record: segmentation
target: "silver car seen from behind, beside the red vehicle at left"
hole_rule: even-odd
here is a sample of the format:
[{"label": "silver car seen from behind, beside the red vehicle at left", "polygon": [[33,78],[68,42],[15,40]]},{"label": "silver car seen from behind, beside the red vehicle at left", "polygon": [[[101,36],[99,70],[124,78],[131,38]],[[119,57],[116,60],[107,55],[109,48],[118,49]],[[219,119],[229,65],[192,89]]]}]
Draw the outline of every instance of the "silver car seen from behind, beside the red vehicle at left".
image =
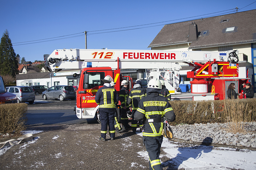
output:
[{"label": "silver car seen from behind, beside the red vehicle at left", "polygon": [[29,104],[33,104],[36,98],[33,89],[28,86],[10,86],[6,90],[9,93],[17,95],[17,103],[28,102]]}]

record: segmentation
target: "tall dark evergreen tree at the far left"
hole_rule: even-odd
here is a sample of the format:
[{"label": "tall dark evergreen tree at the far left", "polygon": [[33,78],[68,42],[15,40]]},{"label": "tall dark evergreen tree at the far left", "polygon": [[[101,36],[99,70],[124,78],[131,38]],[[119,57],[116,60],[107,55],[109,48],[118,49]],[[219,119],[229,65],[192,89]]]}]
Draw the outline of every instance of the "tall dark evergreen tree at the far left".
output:
[{"label": "tall dark evergreen tree at the far left", "polygon": [[3,33],[0,43],[0,73],[12,77],[19,73],[18,61],[7,30]]}]

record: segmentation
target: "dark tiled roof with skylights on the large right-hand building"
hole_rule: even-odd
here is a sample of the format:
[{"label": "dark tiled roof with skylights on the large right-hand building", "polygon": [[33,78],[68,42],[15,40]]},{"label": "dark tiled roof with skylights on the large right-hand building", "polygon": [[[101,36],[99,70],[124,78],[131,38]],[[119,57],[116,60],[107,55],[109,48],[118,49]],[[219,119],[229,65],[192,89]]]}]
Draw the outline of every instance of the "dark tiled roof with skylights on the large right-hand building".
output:
[{"label": "dark tiled roof with skylights on the large right-hand building", "polygon": [[[164,25],[148,47],[188,43],[189,25],[192,23],[197,25],[198,38],[190,41],[191,49],[256,42],[256,10],[249,10]],[[233,26],[236,27],[235,31],[225,33],[226,28]],[[202,35],[203,31],[208,33]]]}]

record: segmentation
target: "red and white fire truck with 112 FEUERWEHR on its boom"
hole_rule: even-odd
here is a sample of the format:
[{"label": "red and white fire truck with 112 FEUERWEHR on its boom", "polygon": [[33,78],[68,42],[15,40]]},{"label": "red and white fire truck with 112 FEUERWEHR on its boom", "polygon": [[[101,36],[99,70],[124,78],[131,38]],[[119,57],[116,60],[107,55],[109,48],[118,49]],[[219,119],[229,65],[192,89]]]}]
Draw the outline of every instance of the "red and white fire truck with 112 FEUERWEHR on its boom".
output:
[{"label": "red and white fire truck with 112 FEUERWEHR on its boom", "polygon": [[[45,54],[44,61],[52,73],[62,69],[81,69],[80,74],[73,75],[79,76],[75,112],[78,118],[86,118],[88,122],[97,119],[99,106],[95,102],[95,94],[103,86],[101,79],[110,75],[116,82],[117,92],[123,79],[129,80],[132,88],[132,80],[122,76],[122,69],[145,69],[148,81],[154,77],[162,79],[174,98],[186,100],[224,99],[223,87],[219,89],[216,86],[228,79],[239,79],[237,51],[56,49],[50,55]],[[189,94],[181,94],[178,90],[181,62],[194,67],[187,73],[192,80]],[[240,79],[245,81],[246,78]],[[214,86],[212,93],[208,93],[209,87]]]}]

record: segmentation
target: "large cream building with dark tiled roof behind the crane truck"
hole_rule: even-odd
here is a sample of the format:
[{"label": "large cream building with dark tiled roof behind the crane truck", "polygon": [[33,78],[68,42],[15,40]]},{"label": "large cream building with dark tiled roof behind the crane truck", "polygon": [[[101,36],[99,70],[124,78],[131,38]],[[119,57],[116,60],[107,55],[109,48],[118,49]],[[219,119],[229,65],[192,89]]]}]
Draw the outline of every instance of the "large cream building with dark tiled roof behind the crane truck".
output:
[{"label": "large cream building with dark tiled roof behind the crane truck", "polygon": [[[256,10],[249,10],[164,25],[148,48],[178,51],[228,51],[237,49],[239,50],[239,61],[248,61],[243,62],[243,64],[254,70],[251,84],[254,85],[255,91],[255,21]],[[182,70],[184,69],[188,70],[188,67],[183,66]],[[182,76],[186,79],[186,75]]]}]

